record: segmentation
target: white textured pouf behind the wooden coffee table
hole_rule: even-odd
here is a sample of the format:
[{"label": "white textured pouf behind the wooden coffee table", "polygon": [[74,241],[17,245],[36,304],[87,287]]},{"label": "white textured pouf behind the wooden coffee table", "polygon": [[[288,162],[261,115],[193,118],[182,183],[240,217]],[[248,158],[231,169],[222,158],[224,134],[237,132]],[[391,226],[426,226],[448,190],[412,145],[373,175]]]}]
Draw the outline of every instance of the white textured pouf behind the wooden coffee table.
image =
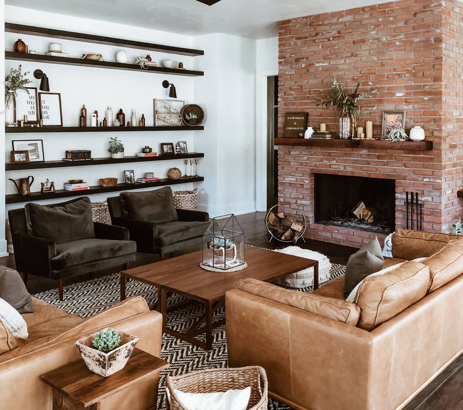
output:
[{"label": "white textured pouf behind the wooden coffee table", "polygon": [[[299,246],[288,246],[288,248],[276,249],[275,252],[319,261],[319,284],[330,279],[331,262],[325,255],[320,254],[319,252],[302,249],[299,248]],[[309,267],[308,269],[304,269],[296,273],[291,273],[288,276],[275,280],[275,283],[296,289],[313,286],[313,267]]]}]

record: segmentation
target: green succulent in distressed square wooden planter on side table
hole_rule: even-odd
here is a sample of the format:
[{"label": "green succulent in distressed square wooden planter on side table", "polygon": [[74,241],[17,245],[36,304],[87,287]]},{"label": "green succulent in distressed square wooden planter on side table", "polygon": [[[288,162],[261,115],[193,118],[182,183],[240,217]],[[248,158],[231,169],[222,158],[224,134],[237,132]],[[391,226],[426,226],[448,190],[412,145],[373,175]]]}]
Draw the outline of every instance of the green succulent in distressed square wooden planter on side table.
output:
[{"label": "green succulent in distressed square wooden planter on side table", "polygon": [[127,364],[138,337],[106,328],[75,342],[85,364],[93,373],[108,377]]}]

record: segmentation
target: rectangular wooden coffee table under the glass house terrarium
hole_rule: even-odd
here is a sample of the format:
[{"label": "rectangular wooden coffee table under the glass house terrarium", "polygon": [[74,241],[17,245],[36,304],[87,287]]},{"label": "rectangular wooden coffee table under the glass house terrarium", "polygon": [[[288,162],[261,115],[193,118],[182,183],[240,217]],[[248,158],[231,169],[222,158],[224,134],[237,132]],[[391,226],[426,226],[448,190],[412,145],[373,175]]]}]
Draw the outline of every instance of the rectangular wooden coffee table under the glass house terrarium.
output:
[{"label": "rectangular wooden coffee table under the glass house terrarium", "polygon": [[[163,332],[178,337],[200,348],[212,349],[212,330],[225,324],[225,320],[212,322],[213,312],[225,301],[225,292],[240,279],[253,278],[270,282],[291,273],[313,267],[314,289],[318,288],[318,261],[286,255],[269,249],[245,245],[244,260],[248,267],[236,272],[209,272],[200,268],[202,251],[178,256],[166,261],[135,267],[120,273],[120,298],[125,299],[126,279],[138,280],[157,287],[157,307],[163,315]],[[167,308],[167,293],[172,292],[206,305],[206,313],[186,333],[167,326],[166,314],[184,306],[182,303]],[[191,301],[187,302],[191,303]],[[206,326],[201,328],[203,323]],[[206,332],[206,343],[196,339]]]}]

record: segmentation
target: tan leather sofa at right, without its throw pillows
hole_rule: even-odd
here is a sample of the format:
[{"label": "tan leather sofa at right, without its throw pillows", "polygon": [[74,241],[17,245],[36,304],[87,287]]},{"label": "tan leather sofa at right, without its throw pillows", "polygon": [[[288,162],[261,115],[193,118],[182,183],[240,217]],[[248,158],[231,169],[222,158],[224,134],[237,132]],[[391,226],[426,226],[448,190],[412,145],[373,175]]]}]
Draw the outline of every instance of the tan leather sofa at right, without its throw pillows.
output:
[{"label": "tan leather sofa at right, without its throw pillows", "polygon": [[[463,246],[461,238],[397,231],[386,265],[430,257],[422,266],[407,262],[423,267],[421,275],[429,269],[429,285],[424,297],[371,331],[349,323],[355,310],[341,303],[348,303],[340,300],[343,278],[314,292],[310,309],[294,291],[282,297],[236,284],[225,295],[229,366],[264,367],[269,396],[298,410],[403,408],[463,351],[463,254],[449,273],[443,248],[450,241]],[[339,314],[346,308],[349,317]]]}]

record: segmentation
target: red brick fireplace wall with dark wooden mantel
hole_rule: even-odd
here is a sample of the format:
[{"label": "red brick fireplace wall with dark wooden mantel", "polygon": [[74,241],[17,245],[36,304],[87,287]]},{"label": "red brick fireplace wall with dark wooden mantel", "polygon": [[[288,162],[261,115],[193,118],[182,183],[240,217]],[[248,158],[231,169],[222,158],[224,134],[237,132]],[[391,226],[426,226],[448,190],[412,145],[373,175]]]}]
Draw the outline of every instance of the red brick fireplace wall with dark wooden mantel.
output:
[{"label": "red brick fireplace wall with dark wooden mantel", "polygon": [[[460,2],[403,0],[280,22],[279,201],[305,213],[306,236],[358,247],[385,236],[316,223],[317,173],[394,180],[395,228],[406,226],[405,193],[416,192],[423,229],[450,232],[463,209],[462,20]],[[334,76],[347,87],[360,81],[360,91],[377,88],[361,102],[359,126],[373,121],[379,137],[382,111],[405,110],[406,130],[420,125],[432,149],[282,139],[285,112],[307,111],[309,126],[334,131],[335,113],[308,100],[324,95]]]}]

